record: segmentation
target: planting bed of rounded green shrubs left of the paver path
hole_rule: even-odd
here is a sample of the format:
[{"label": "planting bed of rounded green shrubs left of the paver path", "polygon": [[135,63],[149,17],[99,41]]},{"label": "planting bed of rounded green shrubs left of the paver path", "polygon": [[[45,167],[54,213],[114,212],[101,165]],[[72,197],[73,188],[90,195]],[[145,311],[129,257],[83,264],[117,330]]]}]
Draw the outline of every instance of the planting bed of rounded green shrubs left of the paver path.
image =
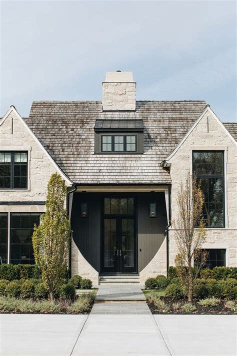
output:
[{"label": "planting bed of rounded green shrubs left of the paver path", "polygon": [[0,313],[86,314],[94,302],[96,289],[89,279],[66,271],[49,300],[40,270],[32,265],[0,266]]}]

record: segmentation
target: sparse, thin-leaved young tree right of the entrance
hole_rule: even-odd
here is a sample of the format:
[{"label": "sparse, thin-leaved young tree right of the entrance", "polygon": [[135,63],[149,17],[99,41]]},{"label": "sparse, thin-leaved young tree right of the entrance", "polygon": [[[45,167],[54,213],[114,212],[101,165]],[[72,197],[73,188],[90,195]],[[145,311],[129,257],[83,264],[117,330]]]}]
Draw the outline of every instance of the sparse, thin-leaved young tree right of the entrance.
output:
[{"label": "sparse, thin-leaved young tree right of the entrance", "polygon": [[[175,257],[178,277],[187,294],[188,301],[192,300],[193,280],[197,278],[204,266],[207,252],[201,249],[205,242],[206,231],[202,216],[203,195],[196,178],[187,175],[185,183],[180,184],[177,195],[177,218],[173,224],[178,253]],[[198,261],[196,270],[192,270],[192,262]]]}]

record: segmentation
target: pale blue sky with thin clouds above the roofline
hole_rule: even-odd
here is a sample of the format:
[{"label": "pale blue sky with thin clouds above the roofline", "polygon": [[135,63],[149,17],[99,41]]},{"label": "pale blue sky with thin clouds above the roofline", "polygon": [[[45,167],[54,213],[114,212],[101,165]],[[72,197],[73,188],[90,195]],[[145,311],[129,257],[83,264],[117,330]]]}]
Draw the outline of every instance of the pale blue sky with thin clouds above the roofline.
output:
[{"label": "pale blue sky with thin clouds above the roofline", "polygon": [[137,100],[206,100],[236,121],[234,1],[1,1],[0,115],[11,104],[101,100],[132,71]]}]

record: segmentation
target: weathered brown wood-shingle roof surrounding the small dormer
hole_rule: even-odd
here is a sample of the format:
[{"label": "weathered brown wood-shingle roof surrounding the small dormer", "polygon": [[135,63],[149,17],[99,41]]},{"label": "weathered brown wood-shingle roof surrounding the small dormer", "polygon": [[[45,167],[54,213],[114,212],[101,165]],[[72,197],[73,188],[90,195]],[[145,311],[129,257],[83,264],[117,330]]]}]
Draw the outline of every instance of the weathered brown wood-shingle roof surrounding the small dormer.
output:
[{"label": "weathered brown wood-shingle roof surrounding the small dormer", "polygon": [[[76,183],[170,182],[159,167],[202,113],[204,101],[138,101],[135,112],[102,112],[101,102],[33,102],[26,124]],[[96,120],[142,120],[143,154],[94,154]]]}]

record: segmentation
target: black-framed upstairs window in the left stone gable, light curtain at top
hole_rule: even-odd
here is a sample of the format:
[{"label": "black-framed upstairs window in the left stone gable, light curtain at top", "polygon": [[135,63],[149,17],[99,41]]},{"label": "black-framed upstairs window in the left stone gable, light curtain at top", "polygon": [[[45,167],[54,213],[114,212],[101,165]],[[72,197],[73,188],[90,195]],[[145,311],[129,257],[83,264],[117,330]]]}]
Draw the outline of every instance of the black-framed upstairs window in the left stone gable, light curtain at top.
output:
[{"label": "black-framed upstairs window in the left stone gable, light curtain at top", "polygon": [[27,152],[0,152],[0,189],[27,188]]}]

